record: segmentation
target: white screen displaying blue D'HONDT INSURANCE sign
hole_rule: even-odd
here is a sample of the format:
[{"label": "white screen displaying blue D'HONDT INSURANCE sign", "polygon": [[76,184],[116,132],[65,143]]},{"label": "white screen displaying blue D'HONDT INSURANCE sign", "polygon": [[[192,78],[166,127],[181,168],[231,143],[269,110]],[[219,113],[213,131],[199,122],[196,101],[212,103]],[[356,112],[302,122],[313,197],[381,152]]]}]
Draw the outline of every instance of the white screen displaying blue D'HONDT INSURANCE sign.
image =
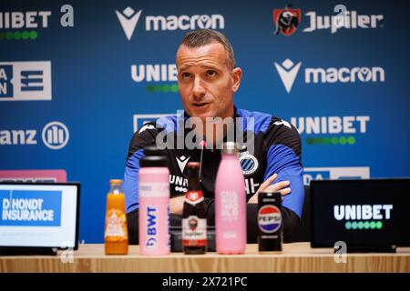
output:
[{"label": "white screen displaying blue D'HONDT INSURANCE sign", "polygon": [[79,184],[0,183],[0,247],[73,247]]}]

